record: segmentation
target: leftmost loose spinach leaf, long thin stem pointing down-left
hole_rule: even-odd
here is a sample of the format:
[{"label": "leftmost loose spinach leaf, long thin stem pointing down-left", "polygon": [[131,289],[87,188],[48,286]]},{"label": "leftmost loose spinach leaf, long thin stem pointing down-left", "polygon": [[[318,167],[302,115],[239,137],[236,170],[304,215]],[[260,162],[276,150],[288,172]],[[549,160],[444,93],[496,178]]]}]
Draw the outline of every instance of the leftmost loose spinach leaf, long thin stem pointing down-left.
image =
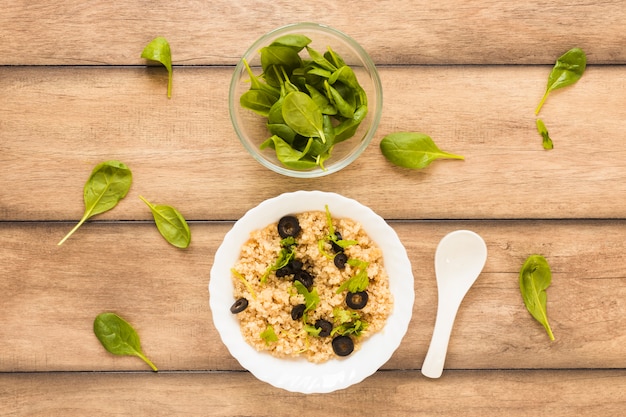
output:
[{"label": "leftmost loose spinach leaf, long thin stem pointing down-left", "polygon": [[128,193],[132,173],[119,161],[102,162],[93,169],[83,189],[85,213],[78,224],[59,242],[62,245],[87,219],[111,210]]}]

